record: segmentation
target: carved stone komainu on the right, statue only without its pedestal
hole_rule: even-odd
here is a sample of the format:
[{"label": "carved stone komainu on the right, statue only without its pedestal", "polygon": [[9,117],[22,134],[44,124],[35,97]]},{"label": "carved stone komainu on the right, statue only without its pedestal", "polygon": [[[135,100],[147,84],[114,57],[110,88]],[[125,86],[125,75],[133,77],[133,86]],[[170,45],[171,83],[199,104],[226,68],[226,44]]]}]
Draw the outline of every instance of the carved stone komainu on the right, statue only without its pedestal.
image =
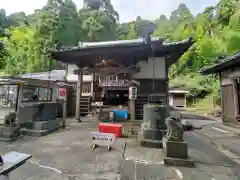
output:
[{"label": "carved stone komainu on the right, statue only without its pedestal", "polygon": [[166,119],[168,141],[183,142],[183,127],[181,120],[168,117]]}]

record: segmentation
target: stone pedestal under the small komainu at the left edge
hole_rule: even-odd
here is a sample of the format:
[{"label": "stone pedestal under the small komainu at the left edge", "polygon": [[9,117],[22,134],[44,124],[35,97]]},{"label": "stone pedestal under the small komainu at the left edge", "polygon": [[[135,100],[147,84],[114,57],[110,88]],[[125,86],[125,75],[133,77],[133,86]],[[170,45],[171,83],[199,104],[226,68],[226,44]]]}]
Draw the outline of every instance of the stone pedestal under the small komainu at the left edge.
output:
[{"label": "stone pedestal under the small komainu at the left edge", "polygon": [[5,127],[0,126],[0,141],[14,141],[20,138],[20,127],[19,126],[12,126],[12,127]]}]

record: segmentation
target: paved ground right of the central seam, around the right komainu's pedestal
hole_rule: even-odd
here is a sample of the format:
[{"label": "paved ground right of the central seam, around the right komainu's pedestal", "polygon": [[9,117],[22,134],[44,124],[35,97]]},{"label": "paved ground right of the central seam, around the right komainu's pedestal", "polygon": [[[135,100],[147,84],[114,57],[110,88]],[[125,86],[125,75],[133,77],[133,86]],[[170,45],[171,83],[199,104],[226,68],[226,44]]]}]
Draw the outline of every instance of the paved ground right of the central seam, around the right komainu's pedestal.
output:
[{"label": "paved ground right of the central seam, around the right komainu's pedestal", "polygon": [[139,147],[134,139],[127,140],[121,180],[239,180],[239,164],[219,152],[194,132],[187,132],[189,156],[196,167],[163,165],[161,150]]}]

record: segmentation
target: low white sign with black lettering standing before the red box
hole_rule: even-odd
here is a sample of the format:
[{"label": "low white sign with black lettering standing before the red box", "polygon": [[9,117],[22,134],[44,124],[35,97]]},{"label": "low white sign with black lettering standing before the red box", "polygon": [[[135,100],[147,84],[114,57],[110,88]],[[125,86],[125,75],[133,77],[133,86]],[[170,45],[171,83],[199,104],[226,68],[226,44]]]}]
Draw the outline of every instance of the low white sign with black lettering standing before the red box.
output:
[{"label": "low white sign with black lettering standing before the red box", "polygon": [[110,133],[92,132],[92,139],[94,146],[97,145],[110,149],[116,141],[116,136]]}]

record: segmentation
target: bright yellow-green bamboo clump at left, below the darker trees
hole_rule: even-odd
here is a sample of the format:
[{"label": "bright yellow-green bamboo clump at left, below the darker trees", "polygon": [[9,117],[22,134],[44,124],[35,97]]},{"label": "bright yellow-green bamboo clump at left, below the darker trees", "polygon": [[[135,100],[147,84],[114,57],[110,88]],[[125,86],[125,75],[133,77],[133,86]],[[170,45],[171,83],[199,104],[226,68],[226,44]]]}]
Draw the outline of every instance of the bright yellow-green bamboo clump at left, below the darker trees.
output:
[{"label": "bright yellow-green bamboo clump at left, below the darker trees", "polygon": [[17,75],[48,68],[49,62],[41,52],[40,38],[34,28],[17,27],[10,33],[10,38],[3,38],[5,51],[1,62],[6,74]]}]

